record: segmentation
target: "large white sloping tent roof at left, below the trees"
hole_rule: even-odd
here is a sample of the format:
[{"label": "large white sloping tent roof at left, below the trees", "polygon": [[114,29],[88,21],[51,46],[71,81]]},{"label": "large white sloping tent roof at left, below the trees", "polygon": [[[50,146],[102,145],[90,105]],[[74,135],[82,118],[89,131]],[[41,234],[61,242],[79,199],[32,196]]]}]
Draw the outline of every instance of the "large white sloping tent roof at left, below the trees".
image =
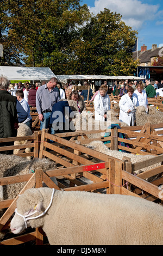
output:
[{"label": "large white sloping tent roof at left, below the trees", "polygon": [[33,68],[26,66],[0,66],[0,75],[8,80],[49,80],[56,77],[50,68]]}]

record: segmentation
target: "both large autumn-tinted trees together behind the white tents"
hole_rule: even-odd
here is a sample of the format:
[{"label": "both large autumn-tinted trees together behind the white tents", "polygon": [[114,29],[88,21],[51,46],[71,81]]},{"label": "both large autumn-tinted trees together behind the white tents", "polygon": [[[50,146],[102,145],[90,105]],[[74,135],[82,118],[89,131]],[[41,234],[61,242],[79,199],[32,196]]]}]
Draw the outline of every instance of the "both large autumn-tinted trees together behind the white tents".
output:
[{"label": "both large autumn-tinted trees together behind the white tents", "polygon": [[0,9],[5,65],[23,61],[57,75],[132,75],[136,68],[128,50],[137,32],[120,14],[93,16],[79,0],[0,0]]}]

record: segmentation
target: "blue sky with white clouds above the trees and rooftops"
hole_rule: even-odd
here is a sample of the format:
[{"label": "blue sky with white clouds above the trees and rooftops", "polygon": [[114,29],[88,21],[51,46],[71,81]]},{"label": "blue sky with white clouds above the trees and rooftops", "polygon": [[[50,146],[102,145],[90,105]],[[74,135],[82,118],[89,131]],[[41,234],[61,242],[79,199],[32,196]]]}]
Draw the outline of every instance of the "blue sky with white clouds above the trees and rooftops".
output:
[{"label": "blue sky with white clouds above the trees and rooftops", "polygon": [[145,44],[147,50],[152,44],[163,46],[163,1],[162,0],[82,0],[93,14],[108,8],[120,13],[126,25],[138,34],[138,48]]}]

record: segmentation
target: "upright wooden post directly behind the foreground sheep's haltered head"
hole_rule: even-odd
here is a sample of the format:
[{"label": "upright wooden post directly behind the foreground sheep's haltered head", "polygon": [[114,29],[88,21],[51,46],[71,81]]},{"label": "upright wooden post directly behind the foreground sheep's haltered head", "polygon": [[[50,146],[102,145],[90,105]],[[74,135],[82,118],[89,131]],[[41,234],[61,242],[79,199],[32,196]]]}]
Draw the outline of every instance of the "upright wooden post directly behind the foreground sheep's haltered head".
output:
[{"label": "upright wooden post directly behind the foreground sheep's haltered head", "polygon": [[[36,169],[35,173],[36,188],[42,187],[43,170]],[[41,227],[36,228],[36,245],[43,245],[43,230]]]}]

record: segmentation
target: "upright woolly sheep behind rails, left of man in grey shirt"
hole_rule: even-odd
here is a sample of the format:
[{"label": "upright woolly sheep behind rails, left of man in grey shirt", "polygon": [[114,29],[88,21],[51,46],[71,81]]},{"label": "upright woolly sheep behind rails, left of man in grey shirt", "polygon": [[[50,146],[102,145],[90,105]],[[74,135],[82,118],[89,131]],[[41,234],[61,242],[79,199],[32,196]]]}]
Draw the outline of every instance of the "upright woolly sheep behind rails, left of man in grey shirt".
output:
[{"label": "upright woolly sheep behind rails, left of man in grey shirt", "polygon": [[[26,124],[18,124],[18,129],[17,129],[17,137],[23,137],[23,136],[29,136],[32,135],[32,130],[30,130],[29,126]],[[23,141],[15,141],[14,145],[22,145],[25,144],[27,140]],[[20,149],[14,149],[14,155],[18,153]],[[29,153],[31,151],[31,148],[26,148],[25,152]],[[27,159],[30,160],[30,156],[27,156]]]}]

